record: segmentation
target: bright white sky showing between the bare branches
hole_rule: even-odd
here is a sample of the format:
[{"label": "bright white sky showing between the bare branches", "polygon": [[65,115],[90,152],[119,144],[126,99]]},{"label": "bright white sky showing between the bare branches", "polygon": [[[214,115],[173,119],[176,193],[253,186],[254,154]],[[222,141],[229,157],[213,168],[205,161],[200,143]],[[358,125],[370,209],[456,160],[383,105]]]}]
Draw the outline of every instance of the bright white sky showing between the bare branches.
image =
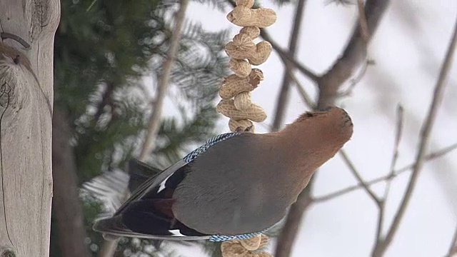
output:
[{"label": "bright white sky showing between the bare branches", "polygon": [[[291,31],[294,6],[278,8],[270,1],[263,6],[275,9],[276,24],[268,28],[281,46],[286,47]],[[219,31],[238,27],[226,20],[226,13],[194,2],[187,16],[201,21],[206,29]],[[371,179],[388,173],[395,133],[396,105],[405,109],[405,128],[399,148],[397,168],[413,161],[418,134],[426,116],[433,87],[444,53],[451,38],[457,16],[456,0],[391,1],[376,32],[369,56],[376,61],[357,84],[350,97],[338,101],[353,119],[354,133],[346,150],[363,178]],[[297,60],[313,71],[328,69],[351,34],[356,20],[356,6],[326,4],[325,0],[310,0],[306,5],[300,35]],[[457,58],[456,58],[457,59]],[[260,66],[265,74],[261,86],[253,91],[253,101],[266,109],[271,124],[276,96],[281,86],[283,65],[276,54]],[[315,87],[299,76],[303,86],[313,96]],[[291,123],[306,111],[293,89],[285,123]],[[220,132],[228,131],[228,119],[221,119]],[[256,132],[268,131],[256,125]],[[457,64],[454,61],[443,106],[433,129],[431,150],[457,142]],[[426,164],[418,180],[406,216],[386,256],[444,256],[451,243],[457,223],[457,151]],[[387,221],[391,222],[408,175],[393,183],[387,204]],[[318,173],[316,195],[331,193],[356,183],[355,178],[336,157]],[[383,186],[373,187],[383,192]],[[376,229],[376,206],[363,193],[356,191],[332,201],[320,203],[308,211],[293,256],[369,256]],[[384,227],[386,230],[387,226]],[[186,251],[184,256],[203,256],[199,250]]]}]

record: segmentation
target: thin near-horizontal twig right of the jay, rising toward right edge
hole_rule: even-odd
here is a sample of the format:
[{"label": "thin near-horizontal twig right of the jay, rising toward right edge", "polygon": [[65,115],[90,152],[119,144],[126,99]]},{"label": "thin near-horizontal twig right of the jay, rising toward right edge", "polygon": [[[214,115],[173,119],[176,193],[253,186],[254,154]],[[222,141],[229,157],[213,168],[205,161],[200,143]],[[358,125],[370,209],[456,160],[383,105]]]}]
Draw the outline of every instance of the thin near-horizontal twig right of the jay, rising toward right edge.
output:
[{"label": "thin near-horizontal twig right of the jay, rising toward right edge", "polygon": [[[451,151],[456,150],[456,149],[457,149],[457,143],[454,143],[451,146],[447,146],[447,147],[442,148],[442,149],[440,149],[438,151],[435,151],[433,153],[429,153],[428,155],[426,155],[425,161],[432,161],[432,160],[434,160],[436,158],[439,158],[441,156],[445,156],[447,153],[451,153]],[[373,179],[371,181],[367,181],[366,185],[372,186],[372,185],[374,185],[376,183],[383,182],[383,181],[386,181],[388,179],[396,178],[396,176],[400,175],[401,173],[405,173],[406,171],[411,170],[411,168],[413,168],[414,166],[415,166],[415,163],[408,164],[407,166],[404,166],[404,167],[399,168],[398,170],[396,170],[393,173],[393,176],[390,176],[390,174],[387,175],[387,176],[381,176],[381,177],[375,178],[375,179]],[[333,193],[328,193],[328,194],[326,194],[324,196],[313,197],[313,201],[316,202],[316,203],[321,203],[321,202],[324,202],[324,201],[331,200],[333,198],[337,198],[339,196],[343,196],[346,193],[351,193],[351,192],[356,191],[356,190],[361,189],[361,188],[363,188],[362,184],[358,183],[355,186],[348,186],[347,188],[343,188],[343,189],[335,191]]]}]

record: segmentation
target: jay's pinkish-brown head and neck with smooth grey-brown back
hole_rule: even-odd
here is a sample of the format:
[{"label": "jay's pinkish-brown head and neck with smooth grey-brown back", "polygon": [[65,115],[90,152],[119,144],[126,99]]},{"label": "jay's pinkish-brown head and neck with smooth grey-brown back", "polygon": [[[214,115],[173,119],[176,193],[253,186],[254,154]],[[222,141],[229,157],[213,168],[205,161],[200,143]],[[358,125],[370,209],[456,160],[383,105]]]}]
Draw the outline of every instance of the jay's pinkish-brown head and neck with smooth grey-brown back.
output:
[{"label": "jay's pinkish-brown head and neck with smooth grey-brown back", "polygon": [[278,222],[313,171],[352,135],[346,111],[307,113],[276,133],[243,133],[212,146],[174,192],[176,218],[201,233],[236,235]]}]

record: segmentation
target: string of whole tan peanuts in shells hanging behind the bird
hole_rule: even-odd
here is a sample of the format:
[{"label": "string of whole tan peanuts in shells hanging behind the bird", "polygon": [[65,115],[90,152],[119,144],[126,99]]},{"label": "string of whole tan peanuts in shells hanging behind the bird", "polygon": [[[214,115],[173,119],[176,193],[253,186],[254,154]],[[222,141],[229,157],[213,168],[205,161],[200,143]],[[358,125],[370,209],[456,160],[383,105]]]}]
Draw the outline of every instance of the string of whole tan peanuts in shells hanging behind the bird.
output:
[{"label": "string of whole tan peanuts in shells hanging behind the bird", "polygon": [[[266,119],[261,106],[251,102],[251,91],[263,80],[260,69],[251,65],[260,65],[271,54],[271,44],[261,41],[253,42],[260,35],[260,28],[271,26],[276,21],[272,9],[251,9],[254,0],[236,0],[236,7],[227,15],[231,23],[242,26],[233,40],[226,44],[226,53],[231,57],[229,66],[234,74],[227,76],[219,89],[221,101],[216,107],[219,113],[230,118],[231,131],[253,132],[254,122]],[[260,234],[246,240],[224,241],[221,244],[223,257],[272,257],[270,253],[258,252],[268,243],[268,236]]]}]

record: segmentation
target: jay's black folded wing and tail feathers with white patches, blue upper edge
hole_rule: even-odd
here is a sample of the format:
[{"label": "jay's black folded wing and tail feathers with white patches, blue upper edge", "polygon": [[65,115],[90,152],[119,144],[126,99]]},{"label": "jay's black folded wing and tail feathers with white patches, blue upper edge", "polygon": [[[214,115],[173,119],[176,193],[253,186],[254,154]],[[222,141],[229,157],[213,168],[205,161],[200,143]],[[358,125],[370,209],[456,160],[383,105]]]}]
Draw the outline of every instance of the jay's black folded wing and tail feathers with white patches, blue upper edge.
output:
[{"label": "jay's black folded wing and tail feathers with white patches, blue upper edge", "polygon": [[[111,236],[136,236],[139,238],[196,240],[206,239],[210,235],[199,233],[178,221],[171,211],[174,202],[172,198],[174,189],[190,171],[189,164],[201,153],[216,143],[240,133],[225,133],[211,138],[207,143],[186,155],[180,161],[166,168],[156,176],[146,178],[148,174],[157,171],[156,168],[146,163],[134,160],[129,163],[129,171],[134,173],[134,183],[129,183],[129,188],[135,183],[146,179],[146,182],[136,188],[131,197],[121,205],[109,218],[100,218],[94,223],[94,230]],[[109,238],[109,236],[106,236]]]}]

